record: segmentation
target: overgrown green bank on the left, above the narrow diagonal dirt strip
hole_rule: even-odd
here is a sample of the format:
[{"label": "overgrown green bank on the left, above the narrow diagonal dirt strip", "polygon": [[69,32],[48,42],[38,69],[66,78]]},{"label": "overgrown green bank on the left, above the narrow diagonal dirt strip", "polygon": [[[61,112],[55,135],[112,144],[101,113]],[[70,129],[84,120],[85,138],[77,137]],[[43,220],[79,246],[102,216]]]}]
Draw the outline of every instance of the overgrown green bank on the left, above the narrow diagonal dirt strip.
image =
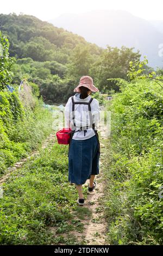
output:
[{"label": "overgrown green bank on the left, above the narrow diagonal dirt strip", "polygon": [[24,107],[17,92],[0,92],[0,176],[7,167],[27,157],[52,131],[52,114],[35,99]]}]

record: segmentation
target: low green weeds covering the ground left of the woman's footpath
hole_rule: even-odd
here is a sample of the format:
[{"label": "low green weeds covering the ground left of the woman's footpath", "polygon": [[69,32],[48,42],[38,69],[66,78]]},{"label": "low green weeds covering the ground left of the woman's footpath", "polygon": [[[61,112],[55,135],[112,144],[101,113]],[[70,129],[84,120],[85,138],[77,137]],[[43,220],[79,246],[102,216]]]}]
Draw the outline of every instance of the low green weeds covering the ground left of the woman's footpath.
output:
[{"label": "low green weeds covering the ground left of the woman's footpath", "polygon": [[55,143],[11,174],[1,198],[1,245],[77,243],[77,237],[62,235],[83,230],[74,218],[82,209],[76,205],[77,192],[68,184],[67,170],[67,147]]}]

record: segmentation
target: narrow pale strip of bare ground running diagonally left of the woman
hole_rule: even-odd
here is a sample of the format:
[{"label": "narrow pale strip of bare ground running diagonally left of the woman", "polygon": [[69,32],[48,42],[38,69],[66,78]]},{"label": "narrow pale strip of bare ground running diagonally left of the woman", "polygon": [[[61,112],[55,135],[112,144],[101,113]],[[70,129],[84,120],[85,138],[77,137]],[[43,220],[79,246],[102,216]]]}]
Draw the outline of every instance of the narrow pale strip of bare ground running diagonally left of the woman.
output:
[{"label": "narrow pale strip of bare ground running diagonally left of the woman", "polygon": [[[43,142],[41,148],[44,149],[47,147],[47,145],[50,145],[50,144],[54,144],[54,139],[55,139],[55,134],[54,132],[51,133],[51,135],[49,135],[45,141]],[[20,161],[18,161],[17,163],[14,164],[14,166],[12,167],[9,167],[7,170],[6,170],[6,174],[4,174],[1,178],[0,178],[0,186],[5,182],[7,181],[7,179],[9,178],[10,174],[12,172],[14,172],[14,170],[18,169],[18,168],[21,168],[23,166],[23,163],[26,162],[28,159],[30,159],[30,157],[33,157],[33,156],[36,156],[36,155],[39,155],[39,151],[33,151],[26,159],[21,159]]]}]

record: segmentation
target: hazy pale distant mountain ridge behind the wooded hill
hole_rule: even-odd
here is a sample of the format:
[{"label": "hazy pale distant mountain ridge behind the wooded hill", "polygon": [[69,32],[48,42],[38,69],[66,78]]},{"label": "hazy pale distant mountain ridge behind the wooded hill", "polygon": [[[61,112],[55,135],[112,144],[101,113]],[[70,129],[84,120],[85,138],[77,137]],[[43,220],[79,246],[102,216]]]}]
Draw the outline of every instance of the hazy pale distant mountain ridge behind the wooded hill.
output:
[{"label": "hazy pale distant mountain ridge behind the wooded hill", "polygon": [[62,14],[49,20],[54,26],[62,27],[83,36],[86,41],[100,47],[134,47],[147,56],[149,65],[162,67],[159,45],[162,33],[151,21],[137,17],[123,10],[96,10],[82,14]]}]

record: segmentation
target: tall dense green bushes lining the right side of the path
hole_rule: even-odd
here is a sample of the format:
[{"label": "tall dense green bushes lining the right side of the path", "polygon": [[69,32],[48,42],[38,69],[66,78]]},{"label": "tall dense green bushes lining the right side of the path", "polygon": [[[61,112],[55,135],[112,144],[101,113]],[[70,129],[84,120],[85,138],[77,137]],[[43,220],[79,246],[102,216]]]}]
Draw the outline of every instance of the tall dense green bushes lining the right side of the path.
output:
[{"label": "tall dense green bushes lining the right side of the path", "polygon": [[119,245],[161,245],[163,91],[154,81],[138,78],[120,89],[109,107],[108,239]]}]

